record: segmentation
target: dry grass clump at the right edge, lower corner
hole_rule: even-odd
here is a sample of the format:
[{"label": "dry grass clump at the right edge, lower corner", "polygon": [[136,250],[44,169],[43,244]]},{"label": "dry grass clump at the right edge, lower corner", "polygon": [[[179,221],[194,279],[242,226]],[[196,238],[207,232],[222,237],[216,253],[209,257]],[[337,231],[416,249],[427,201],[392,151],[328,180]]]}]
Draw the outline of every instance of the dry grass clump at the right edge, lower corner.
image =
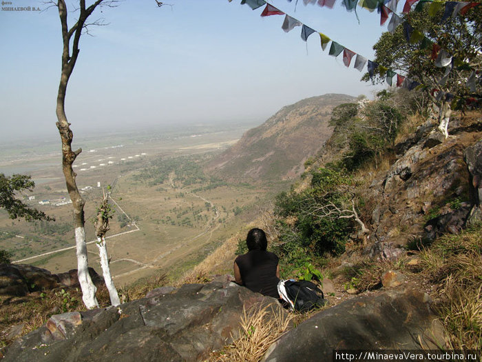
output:
[{"label": "dry grass clump at the right edge, lower corner", "polygon": [[482,348],[482,226],[437,240],[420,253],[421,274],[436,285],[432,298],[458,349]]}]

